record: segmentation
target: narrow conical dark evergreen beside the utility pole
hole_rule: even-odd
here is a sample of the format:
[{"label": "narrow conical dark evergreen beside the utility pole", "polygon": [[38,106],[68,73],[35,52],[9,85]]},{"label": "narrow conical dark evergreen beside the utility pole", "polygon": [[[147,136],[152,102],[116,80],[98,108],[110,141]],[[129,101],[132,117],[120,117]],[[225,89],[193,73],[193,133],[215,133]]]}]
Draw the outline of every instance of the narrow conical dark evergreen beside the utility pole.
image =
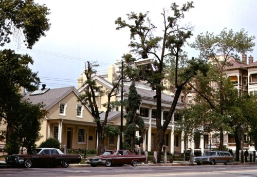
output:
[{"label": "narrow conical dark evergreen beside the utility pole", "polygon": [[123,148],[129,149],[131,152],[134,151],[135,145],[140,144],[140,139],[136,136],[136,131],[144,128],[144,121],[138,114],[140,103],[141,96],[137,94],[135,82],[132,82],[126,101],[128,112],[124,115],[126,118],[126,130],[124,131],[125,142],[123,143]]}]

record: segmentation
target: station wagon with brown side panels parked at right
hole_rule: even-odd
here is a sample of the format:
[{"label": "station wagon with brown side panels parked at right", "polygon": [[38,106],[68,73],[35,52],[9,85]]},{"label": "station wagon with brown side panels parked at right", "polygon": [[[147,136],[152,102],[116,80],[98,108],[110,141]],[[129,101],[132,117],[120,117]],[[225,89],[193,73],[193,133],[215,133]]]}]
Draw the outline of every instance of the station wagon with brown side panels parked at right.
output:
[{"label": "station wagon with brown side panels parked at right", "polygon": [[228,165],[228,163],[232,163],[234,161],[234,157],[228,151],[210,151],[206,152],[204,156],[194,157],[194,162],[197,165],[201,163],[208,163],[211,165],[215,165],[216,163],[224,163]]}]

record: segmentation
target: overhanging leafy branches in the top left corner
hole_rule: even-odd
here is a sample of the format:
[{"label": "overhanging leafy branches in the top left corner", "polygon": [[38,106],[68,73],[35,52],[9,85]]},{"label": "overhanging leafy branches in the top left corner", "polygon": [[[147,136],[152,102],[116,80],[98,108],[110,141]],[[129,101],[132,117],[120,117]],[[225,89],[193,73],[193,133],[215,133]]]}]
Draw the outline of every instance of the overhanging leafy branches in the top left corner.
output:
[{"label": "overhanging leafy branches in the top left corner", "polygon": [[[5,0],[0,1],[0,45],[11,42],[10,35],[18,42],[23,40],[27,48],[46,36],[50,24],[46,15],[49,9],[35,4],[33,0]],[[24,37],[23,37],[24,36]]]}]

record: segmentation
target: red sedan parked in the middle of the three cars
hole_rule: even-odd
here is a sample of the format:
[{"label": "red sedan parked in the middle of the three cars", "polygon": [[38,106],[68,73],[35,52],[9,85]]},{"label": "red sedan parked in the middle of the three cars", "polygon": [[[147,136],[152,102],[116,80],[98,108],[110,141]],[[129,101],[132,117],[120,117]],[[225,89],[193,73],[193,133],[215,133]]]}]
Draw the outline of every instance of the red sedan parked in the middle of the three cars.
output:
[{"label": "red sedan parked in the middle of the three cars", "polygon": [[90,164],[91,167],[98,165],[123,166],[124,164],[137,166],[138,163],[145,162],[145,159],[145,155],[134,155],[129,150],[107,150],[102,155],[86,158],[86,164]]}]

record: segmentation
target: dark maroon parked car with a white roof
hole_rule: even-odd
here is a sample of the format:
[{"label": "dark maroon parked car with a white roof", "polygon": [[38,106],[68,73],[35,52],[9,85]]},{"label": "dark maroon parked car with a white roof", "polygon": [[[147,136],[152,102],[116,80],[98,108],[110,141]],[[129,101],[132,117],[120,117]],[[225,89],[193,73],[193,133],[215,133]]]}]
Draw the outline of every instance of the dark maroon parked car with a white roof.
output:
[{"label": "dark maroon parked car with a white roof", "polygon": [[8,165],[32,166],[62,166],[67,168],[70,163],[80,163],[81,155],[65,155],[60,149],[38,148],[32,149],[31,154],[13,154],[5,158]]}]

